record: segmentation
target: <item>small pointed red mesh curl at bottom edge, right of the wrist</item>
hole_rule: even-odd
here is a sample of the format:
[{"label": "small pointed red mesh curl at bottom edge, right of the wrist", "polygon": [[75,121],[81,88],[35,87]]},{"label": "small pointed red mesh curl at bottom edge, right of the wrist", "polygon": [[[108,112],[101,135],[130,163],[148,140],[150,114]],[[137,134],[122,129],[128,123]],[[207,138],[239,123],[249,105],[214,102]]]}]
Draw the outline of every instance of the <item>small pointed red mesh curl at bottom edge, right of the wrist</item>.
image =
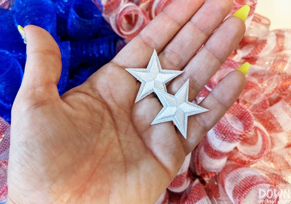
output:
[{"label": "small pointed red mesh curl at bottom edge, right of the wrist", "polygon": [[196,179],[183,193],[180,204],[212,204],[203,185]]}]

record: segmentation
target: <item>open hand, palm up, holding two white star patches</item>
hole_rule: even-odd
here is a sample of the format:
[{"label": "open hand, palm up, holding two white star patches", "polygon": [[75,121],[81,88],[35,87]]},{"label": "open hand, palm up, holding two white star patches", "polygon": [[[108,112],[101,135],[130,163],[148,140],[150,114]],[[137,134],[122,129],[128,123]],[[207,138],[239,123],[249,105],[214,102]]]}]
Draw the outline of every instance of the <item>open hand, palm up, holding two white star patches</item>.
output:
[{"label": "open hand, palm up, holding two white star patches", "polygon": [[134,104],[140,82],[124,68],[145,68],[155,48],[163,69],[184,70],[168,82],[168,92],[175,94],[190,79],[193,101],[245,33],[238,17],[221,24],[232,5],[175,0],[110,63],[61,97],[58,45],[45,30],[26,26],[7,204],[155,203],[185,156],[236,101],[245,76],[233,71],[212,90],[199,104],[210,111],[188,118],[185,140],[172,122],[150,125],[162,105],[154,94]]}]

